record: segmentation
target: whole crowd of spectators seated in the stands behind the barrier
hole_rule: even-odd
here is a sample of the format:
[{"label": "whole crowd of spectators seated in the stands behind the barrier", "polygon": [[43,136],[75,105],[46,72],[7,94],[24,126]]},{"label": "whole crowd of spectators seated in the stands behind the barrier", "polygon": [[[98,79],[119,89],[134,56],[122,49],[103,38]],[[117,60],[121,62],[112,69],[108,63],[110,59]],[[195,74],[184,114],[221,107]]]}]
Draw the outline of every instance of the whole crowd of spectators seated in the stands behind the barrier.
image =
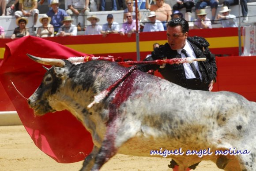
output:
[{"label": "whole crowd of spectators seated in the stands behind the barrier", "polygon": [[[216,16],[218,7],[218,0],[177,0],[177,3],[171,7],[165,2],[165,0],[139,0],[140,4],[143,4],[140,9],[147,9],[148,15],[146,19],[142,21],[141,13],[136,15],[136,7],[133,0],[117,0],[113,1],[113,11],[117,9],[123,10],[123,23],[117,23],[114,21],[112,14],[107,16],[107,22],[104,25],[98,25],[99,18],[96,15],[88,16],[90,8],[92,11],[105,11],[105,0],[67,0],[68,9],[61,9],[58,0],[48,0],[49,11],[46,15],[39,18],[39,22],[42,24],[36,28],[38,21],[38,4],[42,4],[44,0],[15,0],[9,7],[8,12],[6,10],[6,0],[0,0],[0,9],[2,10],[2,16],[8,13],[8,15],[14,15],[16,18],[16,24],[18,27],[14,29],[11,39],[29,35],[29,28],[27,17],[33,16],[32,31],[35,36],[48,37],[48,36],[75,36],[77,31],[77,25],[72,24],[73,16],[83,16],[83,23],[81,25],[82,31],[85,35],[102,34],[106,37],[111,33],[120,33],[121,36],[127,34],[131,37],[132,33],[136,33],[136,16],[138,17],[138,27],[140,32],[155,32],[166,30],[166,22],[171,18],[183,18],[183,14],[179,11],[182,8],[186,8],[185,19],[187,13],[192,12],[192,7],[196,9],[196,20],[193,21],[193,29],[211,29],[212,24],[219,23],[223,27],[237,27],[236,16],[230,14],[230,5],[237,4],[236,0],[224,0],[223,9]],[[124,4],[123,4],[124,3]],[[207,18],[205,12],[206,6],[211,7],[211,19]],[[93,7],[94,6],[94,7]],[[247,0],[241,0],[243,22],[248,22],[248,9]],[[188,19],[187,19],[188,20]],[[87,24],[90,22],[90,24]],[[31,25],[31,24],[30,24]],[[121,26],[121,29],[119,28]],[[4,38],[4,28],[0,26],[0,38]]]}]

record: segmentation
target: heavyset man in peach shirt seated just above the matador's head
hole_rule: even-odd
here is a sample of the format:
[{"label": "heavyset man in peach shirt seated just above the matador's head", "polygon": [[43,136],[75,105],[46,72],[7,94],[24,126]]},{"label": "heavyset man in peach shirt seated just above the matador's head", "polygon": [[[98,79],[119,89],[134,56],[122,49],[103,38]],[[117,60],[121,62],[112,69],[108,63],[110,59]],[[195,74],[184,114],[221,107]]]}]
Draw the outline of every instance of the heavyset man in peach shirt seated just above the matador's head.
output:
[{"label": "heavyset man in peach shirt seated just above the matador's head", "polygon": [[164,0],[155,0],[156,4],[150,5],[149,0],[146,0],[146,8],[150,11],[155,11],[157,20],[161,21],[166,30],[166,22],[171,19],[172,8],[166,4]]}]

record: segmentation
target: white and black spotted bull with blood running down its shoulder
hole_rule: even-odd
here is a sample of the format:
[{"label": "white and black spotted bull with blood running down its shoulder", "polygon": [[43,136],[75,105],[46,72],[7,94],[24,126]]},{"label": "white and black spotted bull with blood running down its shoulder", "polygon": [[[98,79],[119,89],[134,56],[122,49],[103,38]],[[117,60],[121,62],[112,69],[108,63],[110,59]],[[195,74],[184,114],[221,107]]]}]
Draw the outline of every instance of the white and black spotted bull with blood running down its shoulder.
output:
[{"label": "white and black spotted bull with blood running down its shoulder", "polygon": [[[160,148],[183,152],[210,148],[213,152],[202,157],[167,156],[179,164],[179,171],[201,160],[212,160],[226,171],[256,171],[255,102],[226,91],[189,90],[135,70],[102,102],[87,108],[95,95],[129,69],[115,62],[74,65],[68,60],[30,58],[53,65],[28,100],[34,113],[67,109],[91,133],[94,149],[81,171],[98,171],[116,153],[151,156],[151,150]],[[214,153],[229,149],[249,153]]]}]

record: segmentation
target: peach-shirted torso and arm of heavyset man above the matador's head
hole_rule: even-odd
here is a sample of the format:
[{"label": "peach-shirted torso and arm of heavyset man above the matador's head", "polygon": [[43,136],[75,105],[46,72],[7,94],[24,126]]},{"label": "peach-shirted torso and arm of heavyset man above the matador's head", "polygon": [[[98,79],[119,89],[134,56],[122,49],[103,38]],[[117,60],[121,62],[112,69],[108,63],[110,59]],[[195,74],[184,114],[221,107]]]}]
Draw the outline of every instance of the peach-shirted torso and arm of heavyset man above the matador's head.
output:
[{"label": "peach-shirted torso and arm of heavyset man above the matador's head", "polygon": [[168,17],[172,14],[172,8],[169,4],[164,3],[162,7],[158,7],[156,4],[150,6],[150,11],[155,11],[156,19],[161,22],[168,22]]}]

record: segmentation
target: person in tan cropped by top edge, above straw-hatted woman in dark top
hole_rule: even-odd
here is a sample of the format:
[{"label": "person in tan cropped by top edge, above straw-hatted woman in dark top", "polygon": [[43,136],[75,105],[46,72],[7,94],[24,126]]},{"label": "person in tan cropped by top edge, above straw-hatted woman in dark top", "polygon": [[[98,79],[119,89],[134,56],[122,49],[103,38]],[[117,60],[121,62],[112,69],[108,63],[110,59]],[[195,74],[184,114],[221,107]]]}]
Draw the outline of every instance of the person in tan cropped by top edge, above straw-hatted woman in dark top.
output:
[{"label": "person in tan cropped by top edge, above straw-hatted woman in dark top", "polygon": [[19,11],[15,11],[14,15],[16,18],[22,16],[34,16],[33,28],[35,29],[35,25],[38,21],[38,0],[19,0]]}]

